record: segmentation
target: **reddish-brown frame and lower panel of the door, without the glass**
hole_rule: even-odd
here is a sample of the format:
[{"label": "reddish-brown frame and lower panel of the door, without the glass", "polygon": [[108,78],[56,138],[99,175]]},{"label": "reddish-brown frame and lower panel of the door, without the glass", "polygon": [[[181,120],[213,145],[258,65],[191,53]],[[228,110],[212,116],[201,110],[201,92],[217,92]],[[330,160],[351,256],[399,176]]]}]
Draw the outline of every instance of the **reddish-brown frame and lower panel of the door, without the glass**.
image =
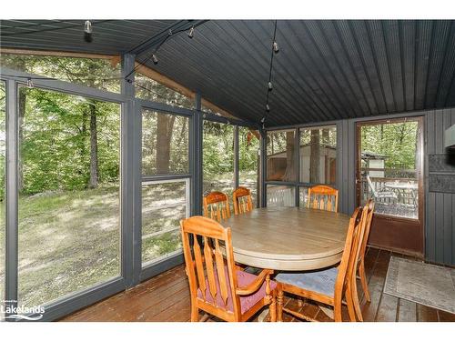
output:
[{"label": "reddish-brown frame and lower panel of the door, without the glass", "polygon": [[[403,122],[417,122],[418,123],[418,144],[417,144],[417,153],[419,155],[418,163],[416,165],[417,180],[419,184],[418,196],[418,219],[411,219],[407,217],[398,217],[398,216],[387,216],[381,214],[375,214],[375,219],[373,220],[373,225],[371,226],[372,237],[370,236],[369,245],[377,246],[384,249],[389,249],[391,251],[398,251],[403,254],[408,254],[412,256],[418,256],[423,258],[425,254],[425,184],[424,184],[424,173],[425,173],[425,145],[424,145],[424,116],[423,115],[412,115],[412,116],[401,116],[394,118],[380,118],[373,120],[362,120],[356,122],[356,203],[360,206],[361,201],[361,189],[360,189],[360,171],[361,171],[361,137],[360,131],[361,127],[364,125],[380,125],[380,124],[392,124],[392,123],[403,123]],[[376,231],[374,228],[376,222],[376,227],[381,226],[380,228],[384,229],[386,236],[381,236],[381,234]],[[417,224],[416,224],[417,223]],[[399,232],[399,228],[412,228],[413,226],[419,226],[420,233],[415,236],[410,242],[415,242],[412,249],[406,247],[406,244],[400,244],[399,241],[394,240],[395,235],[393,233]],[[389,229],[389,231],[388,231]],[[389,232],[389,236],[387,233]],[[378,236],[381,236],[378,238]],[[373,240],[371,240],[371,238]],[[392,244],[394,243],[394,244]]]}]

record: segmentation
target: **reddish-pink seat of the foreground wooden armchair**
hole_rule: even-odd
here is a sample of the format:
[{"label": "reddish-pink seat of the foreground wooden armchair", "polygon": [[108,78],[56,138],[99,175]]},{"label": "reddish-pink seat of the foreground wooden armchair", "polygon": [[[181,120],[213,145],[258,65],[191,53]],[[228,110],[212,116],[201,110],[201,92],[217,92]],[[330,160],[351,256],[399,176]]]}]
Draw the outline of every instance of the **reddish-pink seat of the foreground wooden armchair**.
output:
[{"label": "reddish-pink seat of the foreground wooden armchair", "polygon": [[[225,266],[225,274],[226,274],[226,280],[228,281],[228,274],[227,274],[227,266]],[[237,271],[237,280],[238,280],[238,286],[239,287],[245,287],[254,282],[254,280],[258,277],[252,274],[248,274],[245,271],[238,270]],[[206,301],[211,303],[212,305],[220,306],[227,309],[229,312],[234,311],[234,305],[232,303],[232,294],[230,289],[227,289],[227,306],[225,306],[223,302],[223,298],[221,297],[221,291],[219,289],[219,281],[218,281],[218,276],[217,272],[215,271],[215,283],[217,285],[217,295],[216,299],[214,299],[211,294],[210,294],[210,289],[208,287],[208,279],[206,278]],[[277,287],[277,283],[274,281],[270,281],[270,290],[274,290]],[[262,284],[262,286],[259,287],[258,291],[255,293],[248,295],[248,296],[240,296],[240,306],[241,306],[241,313],[245,314],[248,312],[248,310],[256,305],[261,299],[263,299],[266,294],[266,282]],[[197,289],[197,297],[201,298],[204,300],[204,297],[202,296],[202,292],[200,289]],[[216,302],[216,303],[215,303]]]}]

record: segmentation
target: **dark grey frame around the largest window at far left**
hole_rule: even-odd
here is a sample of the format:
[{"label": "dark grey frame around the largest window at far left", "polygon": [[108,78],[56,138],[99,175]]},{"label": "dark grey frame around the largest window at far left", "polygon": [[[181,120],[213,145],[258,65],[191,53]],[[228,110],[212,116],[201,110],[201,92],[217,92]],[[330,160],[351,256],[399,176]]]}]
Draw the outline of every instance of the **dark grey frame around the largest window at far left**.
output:
[{"label": "dark grey frame around the largest window at far left", "polygon": [[[129,188],[126,186],[127,172],[124,169],[126,163],[126,95],[116,94],[91,88],[86,85],[76,85],[60,80],[48,79],[39,75],[27,74],[8,68],[2,68],[0,79],[5,81],[6,86],[6,167],[5,167],[5,306],[15,308],[18,302],[18,92],[19,86],[27,86],[27,79],[35,78],[33,87],[45,91],[52,91],[66,95],[79,95],[102,102],[115,103],[121,106],[120,109],[120,210],[119,210],[119,234],[120,234],[120,275],[105,282],[90,286],[83,290],[70,293],[65,296],[45,303],[43,321],[56,319],[68,312],[75,311],[87,303],[93,303],[107,296],[121,291],[126,287],[127,257],[124,254],[124,244],[128,228],[126,224],[126,207],[123,205],[124,197]],[[5,317],[10,314],[6,314]],[[8,321],[16,321],[17,318],[10,318]]]}]

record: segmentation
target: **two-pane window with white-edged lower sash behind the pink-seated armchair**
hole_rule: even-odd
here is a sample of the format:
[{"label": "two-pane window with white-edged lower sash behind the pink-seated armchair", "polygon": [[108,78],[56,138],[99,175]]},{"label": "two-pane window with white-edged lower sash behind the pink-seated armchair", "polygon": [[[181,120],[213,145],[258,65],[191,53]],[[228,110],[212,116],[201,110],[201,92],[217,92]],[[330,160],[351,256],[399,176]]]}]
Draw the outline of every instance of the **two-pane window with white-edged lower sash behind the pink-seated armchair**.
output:
[{"label": "two-pane window with white-edged lower sash behind the pink-seated armchair", "polygon": [[[142,265],[181,252],[179,221],[189,212],[189,118],[142,111]],[[157,176],[178,176],[154,180]]]}]

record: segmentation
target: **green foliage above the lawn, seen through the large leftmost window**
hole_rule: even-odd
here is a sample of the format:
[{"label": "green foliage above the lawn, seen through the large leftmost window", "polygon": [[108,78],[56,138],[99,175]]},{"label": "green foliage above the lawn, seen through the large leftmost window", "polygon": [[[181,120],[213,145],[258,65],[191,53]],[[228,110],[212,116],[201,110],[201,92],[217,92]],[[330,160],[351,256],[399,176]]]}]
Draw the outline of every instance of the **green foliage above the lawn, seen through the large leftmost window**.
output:
[{"label": "green foliage above the lawn, seen through the large leftmost window", "polygon": [[90,176],[90,106],[96,109],[99,181],[118,180],[120,107],[41,89],[25,96],[22,193],[84,189]]}]

